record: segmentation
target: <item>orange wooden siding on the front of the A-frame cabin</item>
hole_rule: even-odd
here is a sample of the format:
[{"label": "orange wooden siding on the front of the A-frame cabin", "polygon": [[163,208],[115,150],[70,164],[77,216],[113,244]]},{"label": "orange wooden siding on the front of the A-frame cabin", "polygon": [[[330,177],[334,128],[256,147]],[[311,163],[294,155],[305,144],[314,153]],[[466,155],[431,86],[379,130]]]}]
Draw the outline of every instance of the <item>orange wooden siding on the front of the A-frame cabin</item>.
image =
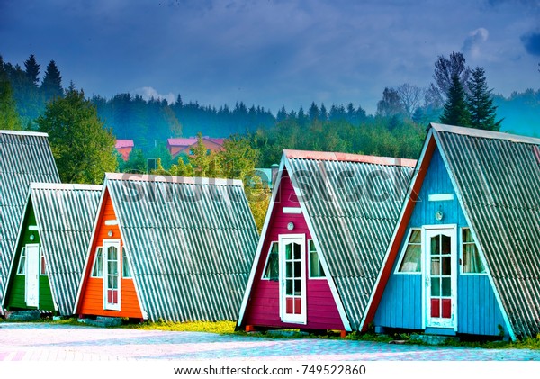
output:
[{"label": "orange wooden siding on the front of the A-frame cabin", "polygon": [[[121,278],[120,290],[121,299],[120,311],[105,311],[103,310],[103,279],[91,277],[92,269],[94,267],[95,250],[99,246],[103,246],[103,239],[121,239],[120,229],[118,225],[105,225],[107,220],[117,220],[116,213],[112,208],[111,197],[107,190],[105,190],[102,208],[99,214],[99,221],[97,223],[97,230],[92,242],[92,249],[90,251],[90,259],[86,272],[84,273],[84,284],[81,291],[81,298],[79,300],[76,313],[79,315],[87,316],[110,316],[110,317],[129,317],[133,319],[142,319],[142,311],[140,310],[139,300],[137,293],[135,292],[135,284],[133,279]],[[112,230],[112,237],[107,235],[107,232]],[[123,242],[120,241],[121,247]],[[121,254],[121,252],[119,252]],[[121,259],[119,270],[121,273]]]}]

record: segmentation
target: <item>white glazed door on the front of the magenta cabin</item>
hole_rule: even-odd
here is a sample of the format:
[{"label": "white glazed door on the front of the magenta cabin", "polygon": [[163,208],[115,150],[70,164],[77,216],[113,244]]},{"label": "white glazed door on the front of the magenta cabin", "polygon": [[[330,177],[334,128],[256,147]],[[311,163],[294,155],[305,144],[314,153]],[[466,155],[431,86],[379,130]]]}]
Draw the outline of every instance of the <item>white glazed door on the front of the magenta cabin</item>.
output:
[{"label": "white glazed door on the front of the magenta cabin", "polygon": [[280,314],[284,322],[305,324],[306,257],[305,235],[279,236]]}]

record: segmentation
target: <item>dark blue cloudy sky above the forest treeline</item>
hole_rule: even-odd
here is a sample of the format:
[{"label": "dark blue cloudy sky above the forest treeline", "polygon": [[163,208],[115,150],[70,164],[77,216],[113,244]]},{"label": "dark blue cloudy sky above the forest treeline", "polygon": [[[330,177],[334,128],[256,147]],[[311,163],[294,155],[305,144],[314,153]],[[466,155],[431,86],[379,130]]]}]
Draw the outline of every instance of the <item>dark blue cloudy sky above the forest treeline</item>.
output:
[{"label": "dark blue cloudy sky above the forest treeline", "polygon": [[540,87],[540,0],[0,0],[0,55],[54,59],[86,95],[312,101],[374,113],[385,86],[433,81],[464,53],[494,93]]}]

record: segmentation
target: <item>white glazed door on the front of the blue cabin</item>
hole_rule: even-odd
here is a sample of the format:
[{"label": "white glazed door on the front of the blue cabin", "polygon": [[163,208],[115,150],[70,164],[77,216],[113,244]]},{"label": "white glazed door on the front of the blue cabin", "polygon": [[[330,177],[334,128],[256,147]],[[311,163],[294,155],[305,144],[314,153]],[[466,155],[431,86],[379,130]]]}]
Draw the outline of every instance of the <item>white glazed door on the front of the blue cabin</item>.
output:
[{"label": "white glazed door on the front of the blue cabin", "polygon": [[425,229],[426,327],[456,328],[456,226]]}]

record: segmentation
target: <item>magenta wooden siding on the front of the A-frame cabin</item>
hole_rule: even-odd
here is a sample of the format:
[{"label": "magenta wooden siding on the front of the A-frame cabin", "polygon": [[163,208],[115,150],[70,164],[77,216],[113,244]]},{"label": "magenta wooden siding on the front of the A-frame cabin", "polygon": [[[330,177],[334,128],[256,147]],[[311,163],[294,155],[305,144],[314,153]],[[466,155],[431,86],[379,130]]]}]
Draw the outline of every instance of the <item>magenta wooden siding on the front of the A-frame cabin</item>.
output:
[{"label": "magenta wooden siding on the front of the A-frame cabin", "polygon": [[[308,240],[311,239],[310,230],[303,214],[283,213],[284,207],[300,207],[294,194],[291,179],[286,170],[277,189],[279,194],[275,198],[274,210],[266,230],[266,236],[260,260],[257,263],[257,272],[247,303],[247,311],[242,322],[243,325],[264,326],[273,328],[299,328],[302,329],[345,329],[338,307],[329,283],[324,279],[310,279]],[[293,221],[294,230],[287,230],[287,224]],[[306,235],[306,294],[307,294],[307,323],[305,325],[284,323],[280,319],[279,310],[279,283],[277,281],[261,280],[270,245],[278,240],[279,235],[305,234]]]}]

